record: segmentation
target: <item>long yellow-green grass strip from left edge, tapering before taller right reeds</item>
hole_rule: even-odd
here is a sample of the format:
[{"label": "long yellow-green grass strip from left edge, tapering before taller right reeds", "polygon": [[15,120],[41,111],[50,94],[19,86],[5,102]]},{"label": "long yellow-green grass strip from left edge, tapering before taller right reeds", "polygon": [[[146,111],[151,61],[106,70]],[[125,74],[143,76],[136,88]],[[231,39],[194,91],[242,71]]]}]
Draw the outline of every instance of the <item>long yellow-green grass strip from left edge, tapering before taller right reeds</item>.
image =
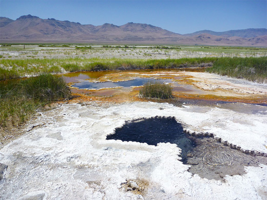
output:
[{"label": "long yellow-green grass strip from left edge, tapering before taller right reeds", "polygon": [[117,69],[166,69],[190,67],[200,63],[210,63],[216,58],[181,59],[121,59],[121,58],[63,58],[63,59],[2,59],[0,60],[0,80],[38,75],[41,73],[60,73],[64,70],[101,71]]}]

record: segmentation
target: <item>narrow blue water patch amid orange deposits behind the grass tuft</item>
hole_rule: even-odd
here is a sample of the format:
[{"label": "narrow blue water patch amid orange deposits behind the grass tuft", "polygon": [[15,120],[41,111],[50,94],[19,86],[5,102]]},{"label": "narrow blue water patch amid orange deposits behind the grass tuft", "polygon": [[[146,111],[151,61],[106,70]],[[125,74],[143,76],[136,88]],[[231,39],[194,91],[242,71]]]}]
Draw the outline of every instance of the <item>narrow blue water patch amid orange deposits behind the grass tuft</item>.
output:
[{"label": "narrow blue water patch amid orange deposits behind the grass tuft", "polygon": [[88,81],[83,81],[80,83],[75,83],[72,85],[75,88],[79,89],[96,89],[99,90],[101,88],[116,88],[116,87],[131,87],[131,86],[142,86],[147,82],[160,82],[160,83],[171,83],[170,79],[153,79],[153,78],[135,78],[130,81],[122,81],[122,82],[103,82],[103,83],[90,83]]}]

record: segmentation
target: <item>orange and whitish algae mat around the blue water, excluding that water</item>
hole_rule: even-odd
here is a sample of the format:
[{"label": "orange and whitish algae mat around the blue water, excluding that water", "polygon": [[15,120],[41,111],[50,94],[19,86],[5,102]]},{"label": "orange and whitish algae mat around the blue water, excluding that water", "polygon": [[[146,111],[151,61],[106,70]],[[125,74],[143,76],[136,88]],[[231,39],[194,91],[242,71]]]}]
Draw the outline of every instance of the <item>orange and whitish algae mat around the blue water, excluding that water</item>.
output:
[{"label": "orange and whitish algae mat around the blue water, excluding that water", "polygon": [[[202,70],[202,69],[201,69]],[[267,104],[267,87],[264,84],[244,82],[216,74],[199,72],[200,70],[130,70],[130,71],[101,71],[75,72],[62,75],[71,88],[72,101],[105,101],[133,102],[148,101],[139,96],[140,87],[105,88],[99,90],[81,90],[72,88],[73,83],[88,81],[122,82],[139,78],[171,79],[175,98],[201,99],[206,101],[241,102],[252,104]],[[237,81],[236,81],[237,80]],[[245,84],[244,84],[245,83]],[[165,101],[166,102],[166,101]]]}]

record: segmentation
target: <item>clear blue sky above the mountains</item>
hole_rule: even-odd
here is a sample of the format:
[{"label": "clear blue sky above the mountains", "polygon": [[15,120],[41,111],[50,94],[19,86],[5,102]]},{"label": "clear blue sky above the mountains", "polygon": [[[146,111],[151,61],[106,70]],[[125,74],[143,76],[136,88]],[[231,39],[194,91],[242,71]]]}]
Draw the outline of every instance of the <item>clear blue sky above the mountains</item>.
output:
[{"label": "clear blue sky above the mountains", "polygon": [[31,14],[81,24],[145,23],[176,33],[267,28],[267,1],[4,1],[0,16]]}]

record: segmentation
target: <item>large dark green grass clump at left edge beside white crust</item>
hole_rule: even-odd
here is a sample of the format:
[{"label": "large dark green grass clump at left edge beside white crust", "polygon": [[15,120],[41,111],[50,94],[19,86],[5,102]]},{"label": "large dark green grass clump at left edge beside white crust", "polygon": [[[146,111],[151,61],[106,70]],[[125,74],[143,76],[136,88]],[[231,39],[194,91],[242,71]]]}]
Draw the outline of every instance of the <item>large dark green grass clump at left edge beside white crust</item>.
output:
[{"label": "large dark green grass clump at left edge beside white crust", "polygon": [[0,82],[0,127],[19,125],[37,108],[62,98],[70,90],[63,78],[41,74],[24,80]]}]

